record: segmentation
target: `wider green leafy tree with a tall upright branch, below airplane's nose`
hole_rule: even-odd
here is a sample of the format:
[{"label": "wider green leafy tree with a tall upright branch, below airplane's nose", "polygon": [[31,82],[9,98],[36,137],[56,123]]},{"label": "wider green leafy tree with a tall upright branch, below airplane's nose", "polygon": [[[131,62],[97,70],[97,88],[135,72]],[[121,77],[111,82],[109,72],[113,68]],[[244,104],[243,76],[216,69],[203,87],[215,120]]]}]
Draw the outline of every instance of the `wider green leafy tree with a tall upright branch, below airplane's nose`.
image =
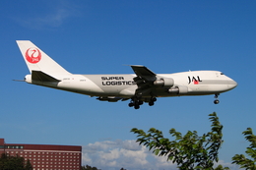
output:
[{"label": "wider green leafy tree with a tall upright branch, below airplane's nose", "polygon": [[[163,138],[161,131],[151,128],[146,134],[136,128],[131,132],[137,134],[137,142],[149,147],[156,155],[166,156],[167,160],[177,164],[180,170],[213,170],[214,162],[219,161],[218,153],[223,141],[223,125],[214,112],[209,115],[212,132],[199,137],[196,131],[188,131],[186,135],[170,129],[169,134],[175,138],[169,141]],[[223,168],[222,166],[218,167]],[[228,168],[223,168],[228,169]]]}]

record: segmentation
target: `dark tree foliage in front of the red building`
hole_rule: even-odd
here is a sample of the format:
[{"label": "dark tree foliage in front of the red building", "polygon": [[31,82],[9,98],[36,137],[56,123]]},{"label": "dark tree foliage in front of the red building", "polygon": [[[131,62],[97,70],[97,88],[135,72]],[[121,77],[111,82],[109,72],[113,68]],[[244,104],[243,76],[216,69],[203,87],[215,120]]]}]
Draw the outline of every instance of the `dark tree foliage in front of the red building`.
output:
[{"label": "dark tree foliage in front of the red building", "polygon": [[20,156],[10,156],[2,153],[0,158],[0,170],[32,170],[30,160],[25,163],[25,159]]}]

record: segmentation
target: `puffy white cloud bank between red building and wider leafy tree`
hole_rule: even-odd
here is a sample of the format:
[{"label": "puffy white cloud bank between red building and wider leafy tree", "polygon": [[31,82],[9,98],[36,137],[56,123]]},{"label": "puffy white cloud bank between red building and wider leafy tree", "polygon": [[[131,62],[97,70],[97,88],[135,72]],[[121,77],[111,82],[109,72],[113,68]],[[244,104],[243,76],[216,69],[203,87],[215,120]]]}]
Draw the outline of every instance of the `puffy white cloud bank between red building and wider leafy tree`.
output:
[{"label": "puffy white cloud bank between red building and wider leafy tree", "polygon": [[165,157],[155,156],[145,146],[135,141],[105,141],[83,147],[83,165],[104,170],[158,170],[176,169]]}]

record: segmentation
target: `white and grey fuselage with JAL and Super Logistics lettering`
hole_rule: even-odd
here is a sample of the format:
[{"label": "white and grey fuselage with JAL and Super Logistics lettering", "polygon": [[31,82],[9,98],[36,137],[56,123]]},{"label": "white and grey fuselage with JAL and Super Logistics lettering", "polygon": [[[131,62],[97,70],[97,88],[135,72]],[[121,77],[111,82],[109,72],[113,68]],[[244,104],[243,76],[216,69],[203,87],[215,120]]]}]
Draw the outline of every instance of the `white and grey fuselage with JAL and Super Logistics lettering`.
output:
[{"label": "white and grey fuselage with JAL and Super Logistics lettering", "polygon": [[[26,82],[43,85],[91,96],[130,97],[138,86],[134,82],[136,75],[59,75],[59,83],[32,81],[31,75]],[[169,92],[165,86],[156,86],[158,97],[180,95],[207,95],[221,93],[234,88],[237,84],[218,71],[193,71],[175,74],[158,74],[159,78],[171,78],[175,86],[187,87],[186,93]],[[145,96],[146,97],[146,96]]]}]

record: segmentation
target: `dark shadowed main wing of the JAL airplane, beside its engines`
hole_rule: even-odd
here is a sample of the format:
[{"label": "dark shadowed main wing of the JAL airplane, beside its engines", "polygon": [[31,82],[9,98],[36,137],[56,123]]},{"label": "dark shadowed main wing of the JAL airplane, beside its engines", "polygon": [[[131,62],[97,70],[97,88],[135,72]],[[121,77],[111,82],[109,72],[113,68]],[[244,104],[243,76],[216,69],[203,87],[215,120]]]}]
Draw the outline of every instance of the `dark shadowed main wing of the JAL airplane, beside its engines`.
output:
[{"label": "dark shadowed main wing of the JAL airplane, beside its engines", "polygon": [[131,66],[137,77],[133,80],[138,85],[136,95],[149,95],[153,91],[154,82],[157,74],[145,66]]}]

